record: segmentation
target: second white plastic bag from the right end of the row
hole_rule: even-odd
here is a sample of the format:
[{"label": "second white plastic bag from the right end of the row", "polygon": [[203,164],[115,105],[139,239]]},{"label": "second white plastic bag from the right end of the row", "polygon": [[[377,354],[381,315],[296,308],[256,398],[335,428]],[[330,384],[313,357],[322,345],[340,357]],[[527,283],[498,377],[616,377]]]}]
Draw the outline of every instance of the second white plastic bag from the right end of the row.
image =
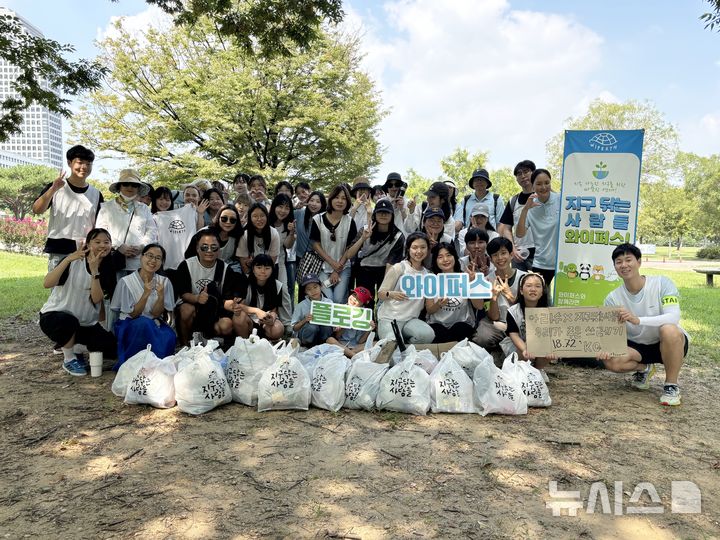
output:
[{"label": "second white plastic bag from the right end of the row", "polygon": [[482,416],[490,413],[527,414],[527,397],[517,378],[498,369],[491,359],[483,358],[475,368],[475,408]]}]

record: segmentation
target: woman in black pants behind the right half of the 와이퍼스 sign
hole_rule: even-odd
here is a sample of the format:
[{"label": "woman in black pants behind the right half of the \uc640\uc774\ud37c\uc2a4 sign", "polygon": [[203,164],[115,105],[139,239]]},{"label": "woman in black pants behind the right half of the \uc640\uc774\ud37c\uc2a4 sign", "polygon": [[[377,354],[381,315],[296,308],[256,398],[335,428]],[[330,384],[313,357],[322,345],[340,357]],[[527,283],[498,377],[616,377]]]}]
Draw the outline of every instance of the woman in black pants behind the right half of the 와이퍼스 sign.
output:
[{"label": "woman in black pants behind the right half of the \uc640\uc774\ud37c\uc2a4 sign", "polygon": [[[449,242],[440,242],[432,250],[433,272],[460,273],[460,259],[455,247]],[[475,280],[473,263],[468,268],[470,282]],[[434,343],[461,341],[475,333],[475,321],[485,315],[482,299],[467,298],[426,298],[427,322],[435,332]]]}]

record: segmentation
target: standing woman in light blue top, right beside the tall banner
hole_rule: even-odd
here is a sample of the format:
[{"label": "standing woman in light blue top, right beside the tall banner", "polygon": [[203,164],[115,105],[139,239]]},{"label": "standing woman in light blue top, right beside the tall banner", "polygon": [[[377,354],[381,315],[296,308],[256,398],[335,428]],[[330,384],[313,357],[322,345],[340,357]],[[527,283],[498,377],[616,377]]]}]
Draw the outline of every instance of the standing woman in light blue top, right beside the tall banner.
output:
[{"label": "standing woman in light blue top, right beside the tall banner", "polygon": [[555,277],[557,235],[560,223],[560,194],[550,186],[550,172],[536,169],[530,181],[535,194],[530,196],[520,213],[516,234],[523,238],[530,230],[535,242],[533,272],[542,274],[545,282]]}]

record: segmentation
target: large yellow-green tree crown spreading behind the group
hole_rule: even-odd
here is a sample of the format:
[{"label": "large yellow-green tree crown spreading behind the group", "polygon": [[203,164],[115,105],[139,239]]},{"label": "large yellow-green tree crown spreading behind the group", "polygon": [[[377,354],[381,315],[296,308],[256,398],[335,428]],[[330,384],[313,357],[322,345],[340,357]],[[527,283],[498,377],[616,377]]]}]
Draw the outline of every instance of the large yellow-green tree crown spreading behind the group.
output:
[{"label": "large yellow-green tree crown spreading behind the group", "polygon": [[169,184],[244,171],[323,188],[377,168],[385,113],[355,38],[324,34],[264,58],[208,19],[142,43],[118,31],[101,43],[108,85],[73,119],[78,139]]}]

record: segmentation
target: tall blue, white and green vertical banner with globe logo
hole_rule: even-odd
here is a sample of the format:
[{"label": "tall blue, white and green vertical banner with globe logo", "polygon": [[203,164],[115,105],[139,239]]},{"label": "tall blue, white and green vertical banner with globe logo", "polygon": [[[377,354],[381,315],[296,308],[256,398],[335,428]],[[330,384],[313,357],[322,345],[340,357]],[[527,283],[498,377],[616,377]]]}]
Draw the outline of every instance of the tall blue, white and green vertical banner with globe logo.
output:
[{"label": "tall blue, white and green vertical banner with globe logo", "polygon": [[555,306],[601,306],[622,280],[610,255],[635,242],[645,131],[565,131]]}]

